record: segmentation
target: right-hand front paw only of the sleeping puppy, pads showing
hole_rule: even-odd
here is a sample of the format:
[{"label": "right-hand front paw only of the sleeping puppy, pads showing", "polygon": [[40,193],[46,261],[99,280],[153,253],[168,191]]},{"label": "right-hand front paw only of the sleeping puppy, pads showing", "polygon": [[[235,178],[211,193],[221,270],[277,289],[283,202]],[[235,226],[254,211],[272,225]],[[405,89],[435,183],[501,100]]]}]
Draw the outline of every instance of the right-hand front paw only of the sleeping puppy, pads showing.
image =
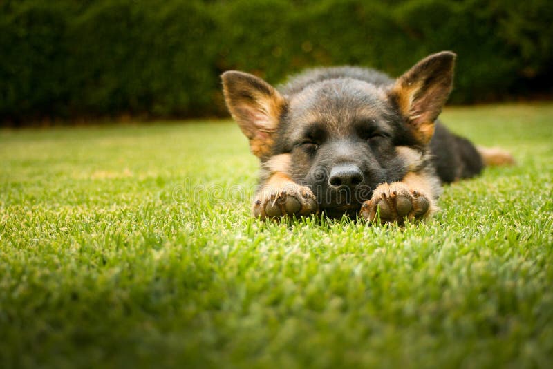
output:
[{"label": "right-hand front paw only of the sleeping puppy, pads showing", "polygon": [[369,222],[377,222],[379,218],[382,224],[397,222],[402,225],[405,218],[420,220],[430,211],[431,198],[402,182],[394,182],[382,183],[375,189],[371,200],[363,203],[361,216]]}]

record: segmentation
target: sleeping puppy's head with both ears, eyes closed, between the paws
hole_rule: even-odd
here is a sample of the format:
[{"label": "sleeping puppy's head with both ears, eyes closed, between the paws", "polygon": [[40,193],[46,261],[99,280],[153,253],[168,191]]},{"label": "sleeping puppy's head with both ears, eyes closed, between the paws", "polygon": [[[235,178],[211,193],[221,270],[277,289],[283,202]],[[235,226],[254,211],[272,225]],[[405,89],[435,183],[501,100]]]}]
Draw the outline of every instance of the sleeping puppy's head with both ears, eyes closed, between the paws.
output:
[{"label": "sleeping puppy's head with both ears, eyes closed, between the paws", "polygon": [[288,175],[328,216],[357,214],[382,182],[422,164],[451,91],[455,54],[423,59],[389,85],[332,77],[283,96],[258,77],[223,74],[232,117],[262,161],[291,156]]}]

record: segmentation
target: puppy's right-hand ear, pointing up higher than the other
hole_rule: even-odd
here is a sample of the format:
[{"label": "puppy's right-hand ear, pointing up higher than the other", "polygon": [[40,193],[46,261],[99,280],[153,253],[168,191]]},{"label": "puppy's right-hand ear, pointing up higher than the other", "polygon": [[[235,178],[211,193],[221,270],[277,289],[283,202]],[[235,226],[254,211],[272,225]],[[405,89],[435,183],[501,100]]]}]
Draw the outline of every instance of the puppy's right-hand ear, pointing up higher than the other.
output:
[{"label": "puppy's right-hand ear, pointing up higher than the other", "polygon": [[388,93],[422,144],[430,142],[434,121],[451,92],[455,58],[456,54],[442,51],[422,59],[397,78]]}]

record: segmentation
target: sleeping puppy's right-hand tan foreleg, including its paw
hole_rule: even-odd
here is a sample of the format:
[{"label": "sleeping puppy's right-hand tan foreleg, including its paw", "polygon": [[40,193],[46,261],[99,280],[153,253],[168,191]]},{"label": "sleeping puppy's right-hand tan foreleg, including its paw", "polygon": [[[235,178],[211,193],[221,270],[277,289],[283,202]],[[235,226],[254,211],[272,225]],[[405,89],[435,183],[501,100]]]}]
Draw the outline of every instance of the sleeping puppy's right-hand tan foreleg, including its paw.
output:
[{"label": "sleeping puppy's right-hand tan foreleg, including its paw", "polygon": [[362,205],[361,216],[370,222],[380,219],[382,224],[422,220],[437,209],[439,195],[440,182],[433,173],[407,173],[400,182],[378,185],[371,200]]}]

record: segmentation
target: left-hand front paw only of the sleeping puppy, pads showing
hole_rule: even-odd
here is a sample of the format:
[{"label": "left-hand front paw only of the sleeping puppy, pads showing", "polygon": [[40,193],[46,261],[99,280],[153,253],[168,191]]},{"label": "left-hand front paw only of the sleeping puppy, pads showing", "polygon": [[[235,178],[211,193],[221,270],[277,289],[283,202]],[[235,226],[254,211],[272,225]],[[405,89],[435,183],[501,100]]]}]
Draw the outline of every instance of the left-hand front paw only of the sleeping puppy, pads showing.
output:
[{"label": "left-hand front paw only of the sleeping puppy, pads showing", "polygon": [[294,182],[284,186],[266,186],[256,195],[253,214],[255,218],[280,218],[281,216],[308,216],[317,213],[317,200],[313,192]]}]

